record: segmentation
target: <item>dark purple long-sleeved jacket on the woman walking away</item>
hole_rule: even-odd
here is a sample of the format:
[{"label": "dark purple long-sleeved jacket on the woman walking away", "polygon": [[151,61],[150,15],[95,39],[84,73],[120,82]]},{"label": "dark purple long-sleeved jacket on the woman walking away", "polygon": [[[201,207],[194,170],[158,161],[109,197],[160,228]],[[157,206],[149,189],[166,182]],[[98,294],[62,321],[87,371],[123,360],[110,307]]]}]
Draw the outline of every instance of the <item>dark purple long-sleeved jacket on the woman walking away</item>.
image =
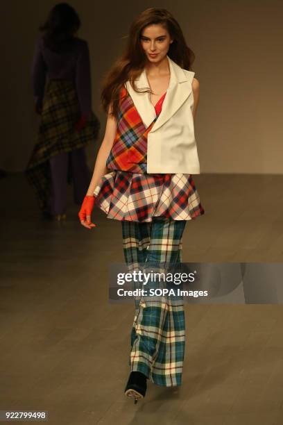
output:
[{"label": "dark purple long-sleeved jacket on the woman walking away", "polygon": [[37,106],[42,105],[46,78],[63,78],[74,81],[81,114],[92,111],[89,48],[85,40],[74,38],[69,51],[56,53],[37,38],[32,63],[33,94]]}]

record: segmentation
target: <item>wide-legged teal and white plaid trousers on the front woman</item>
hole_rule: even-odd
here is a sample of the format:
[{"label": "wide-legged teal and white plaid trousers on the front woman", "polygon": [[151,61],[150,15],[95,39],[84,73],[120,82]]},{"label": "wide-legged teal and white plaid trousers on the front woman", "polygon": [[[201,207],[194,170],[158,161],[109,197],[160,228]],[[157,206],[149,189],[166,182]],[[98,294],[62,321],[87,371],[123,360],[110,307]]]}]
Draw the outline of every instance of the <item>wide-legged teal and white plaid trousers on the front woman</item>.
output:
[{"label": "wide-legged teal and white plaid trousers on the front woman", "polygon": [[[182,234],[186,220],[153,217],[152,222],[121,221],[123,253],[132,269],[140,263],[182,262]],[[153,268],[151,268],[152,270]],[[135,297],[130,334],[130,370],[145,374],[157,385],[182,383],[185,355],[185,312],[182,299]]]}]

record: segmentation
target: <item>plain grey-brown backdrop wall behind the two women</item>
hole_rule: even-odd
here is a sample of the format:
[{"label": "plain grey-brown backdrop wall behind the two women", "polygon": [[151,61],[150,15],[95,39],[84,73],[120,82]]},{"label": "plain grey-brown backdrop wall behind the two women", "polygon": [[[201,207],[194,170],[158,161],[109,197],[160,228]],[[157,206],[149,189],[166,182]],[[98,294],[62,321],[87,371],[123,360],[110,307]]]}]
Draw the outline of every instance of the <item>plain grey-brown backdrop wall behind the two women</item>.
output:
[{"label": "plain grey-brown backdrop wall behind the two women", "polygon": [[[51,0],[1,3],[0,168],[21,171],[35,143],[31,60],[37,28]],[[82,20],[80,37],[89,42],[92,103],[101,137],[87,148],[93,167],[103,139],[100,82],[119,56],[132,19],[142,10],[167,8],[196,53],[200,81],[196,140],[202,173],[282,174],[283,3],[275,0],[101,1],[71,0]]]}]

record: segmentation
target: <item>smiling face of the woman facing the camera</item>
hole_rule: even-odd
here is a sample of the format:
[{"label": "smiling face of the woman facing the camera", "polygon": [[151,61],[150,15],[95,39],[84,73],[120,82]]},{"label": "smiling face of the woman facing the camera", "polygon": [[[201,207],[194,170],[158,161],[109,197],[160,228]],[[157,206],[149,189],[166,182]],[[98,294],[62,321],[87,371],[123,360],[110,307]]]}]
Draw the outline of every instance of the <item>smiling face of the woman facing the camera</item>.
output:
[{"label": "smiling face of the woman facing the camera", "polygon": [[169,32],[160,24],[151,24],[141,31],[141,47],[150,62],[160,62],[173,42]]}]

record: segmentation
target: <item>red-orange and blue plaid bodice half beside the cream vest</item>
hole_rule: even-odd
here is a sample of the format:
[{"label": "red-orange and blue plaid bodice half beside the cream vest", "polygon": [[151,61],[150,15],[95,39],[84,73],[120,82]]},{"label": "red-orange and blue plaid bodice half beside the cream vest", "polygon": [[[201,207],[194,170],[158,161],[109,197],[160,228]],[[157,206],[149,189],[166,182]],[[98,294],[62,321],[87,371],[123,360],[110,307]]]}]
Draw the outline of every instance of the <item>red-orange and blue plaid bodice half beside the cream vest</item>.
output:
[{"label": "red-orange and blue plaid bodice half beside the cream vest", "polygon": [[159,113],[147,128],[126,88],[122,88],[117,119],[117,133],[106,161],[108,169],[146,173],[147,135]]}]

